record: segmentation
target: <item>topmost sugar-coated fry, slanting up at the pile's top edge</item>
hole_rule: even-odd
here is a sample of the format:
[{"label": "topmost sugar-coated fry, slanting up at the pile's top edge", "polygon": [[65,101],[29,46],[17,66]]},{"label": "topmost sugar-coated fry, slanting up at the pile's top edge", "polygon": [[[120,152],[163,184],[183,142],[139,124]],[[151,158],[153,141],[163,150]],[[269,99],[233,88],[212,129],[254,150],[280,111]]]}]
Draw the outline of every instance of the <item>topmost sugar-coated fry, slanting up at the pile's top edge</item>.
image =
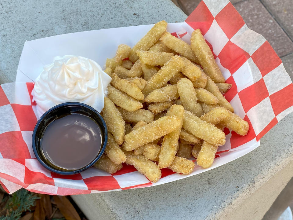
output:
[{"label": "topmost sugar-coated fry, slanting up at the pile's top edge", "polygon": [[136,45],[131,49],[129,60],[133,63],[139,58],[136,54],[138,50],[148,50],[151,46],[153,46],[161,36],[166,32],[167,22],[162,20],[154,25],[147,32],[147,34],[136,43]]}]

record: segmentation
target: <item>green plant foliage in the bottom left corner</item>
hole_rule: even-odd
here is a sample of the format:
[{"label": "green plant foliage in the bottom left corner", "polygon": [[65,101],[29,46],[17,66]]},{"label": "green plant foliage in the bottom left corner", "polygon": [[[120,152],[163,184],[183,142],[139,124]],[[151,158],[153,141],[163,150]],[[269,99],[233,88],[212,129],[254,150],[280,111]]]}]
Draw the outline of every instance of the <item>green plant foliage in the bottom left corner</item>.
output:
[{"label": "green plant foliage in the bottom left corner", "polygon": [[17,220],[24,211],[31,211],[30,207],[34,206],[35,201],[40,197],[31,194],[25,189],[20,189],[7,197],[4,207],[6,215],[0,216],[0,220]]}]

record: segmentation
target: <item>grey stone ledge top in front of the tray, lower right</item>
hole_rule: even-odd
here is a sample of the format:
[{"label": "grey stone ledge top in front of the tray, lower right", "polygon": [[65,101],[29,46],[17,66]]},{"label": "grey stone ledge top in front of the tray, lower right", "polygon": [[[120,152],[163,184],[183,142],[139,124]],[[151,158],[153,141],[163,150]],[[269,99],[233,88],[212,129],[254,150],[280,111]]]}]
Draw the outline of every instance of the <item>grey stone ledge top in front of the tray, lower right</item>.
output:
[{"label": "grey stone ledge top in front of the tray, lower right", "polygon": [[[105,220],[218,219],[293,160],[292,123],[291,113],[261,139],[260,147],[213,170],[149,188],[72,198],[90,220],[98,215]],[[92,204],[98,204],[96,209]]]}]

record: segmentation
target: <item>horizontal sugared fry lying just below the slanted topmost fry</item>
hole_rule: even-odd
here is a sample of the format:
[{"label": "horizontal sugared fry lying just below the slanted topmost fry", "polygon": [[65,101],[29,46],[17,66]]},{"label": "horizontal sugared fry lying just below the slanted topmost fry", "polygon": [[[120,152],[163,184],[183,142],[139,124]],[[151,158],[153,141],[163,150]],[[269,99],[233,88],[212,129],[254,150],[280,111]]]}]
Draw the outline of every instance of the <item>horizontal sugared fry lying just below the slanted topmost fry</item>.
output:
[{"label": "horizontal sugared fry lying just below the slanted topmost fry", "polygon": [[142,63],[151,66],[163,66],[172,56],[174,56],[173,53],[150,52],[143,50],[136,51],[136,54],[139,56]]}]

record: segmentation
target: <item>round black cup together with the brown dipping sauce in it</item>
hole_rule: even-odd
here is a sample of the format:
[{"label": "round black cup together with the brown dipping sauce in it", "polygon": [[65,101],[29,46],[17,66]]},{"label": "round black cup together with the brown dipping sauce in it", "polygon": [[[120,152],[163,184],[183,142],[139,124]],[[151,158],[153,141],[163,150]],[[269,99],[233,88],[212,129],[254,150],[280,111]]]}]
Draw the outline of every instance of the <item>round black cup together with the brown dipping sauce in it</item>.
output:
[{"label": "round black cup together with the brown dipping sauce in it", "polygon": [[64,175],[80,173],[104,153],[108,132],[94,108],[66,102],[45,112],[32,135],[37,160],[48,170]]}]

